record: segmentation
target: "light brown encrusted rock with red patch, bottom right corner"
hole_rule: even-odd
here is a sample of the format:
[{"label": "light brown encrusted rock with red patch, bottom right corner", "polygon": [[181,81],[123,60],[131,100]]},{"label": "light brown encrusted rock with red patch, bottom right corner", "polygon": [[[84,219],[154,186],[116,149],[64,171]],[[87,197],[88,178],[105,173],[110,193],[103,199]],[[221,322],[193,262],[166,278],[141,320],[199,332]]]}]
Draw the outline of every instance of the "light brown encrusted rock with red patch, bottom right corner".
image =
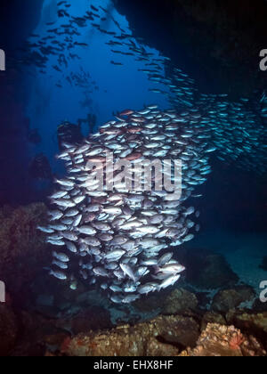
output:
[{"label": "light brown encrusted rock with red patch, bottom right corner", "polygon": [[198,338],[196,348],[183,351],[181,356],[190,357],[253,357],[265,356],[263,346],[255,337],[246,337],[234,326],[208,323]]}]

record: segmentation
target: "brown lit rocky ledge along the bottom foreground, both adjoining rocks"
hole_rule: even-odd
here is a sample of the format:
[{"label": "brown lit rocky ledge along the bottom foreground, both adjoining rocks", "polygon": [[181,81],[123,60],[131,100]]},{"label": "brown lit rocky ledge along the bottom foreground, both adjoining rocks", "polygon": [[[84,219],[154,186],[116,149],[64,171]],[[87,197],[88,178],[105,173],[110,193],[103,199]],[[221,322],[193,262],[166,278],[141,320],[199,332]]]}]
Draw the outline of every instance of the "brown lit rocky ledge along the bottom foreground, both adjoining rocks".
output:
[{"label": "brown lit rocky ledge along the bottom foreground, both adjoining rocks", "polygon": [[[182,350],[182,346],[187,346]],[[207,323],[199,336],[198,323],[182,316],[159,316],[131,327],[88,332],[66,338],[61,355],[68,356],[265,356],[263,345],[234,326]]]}]

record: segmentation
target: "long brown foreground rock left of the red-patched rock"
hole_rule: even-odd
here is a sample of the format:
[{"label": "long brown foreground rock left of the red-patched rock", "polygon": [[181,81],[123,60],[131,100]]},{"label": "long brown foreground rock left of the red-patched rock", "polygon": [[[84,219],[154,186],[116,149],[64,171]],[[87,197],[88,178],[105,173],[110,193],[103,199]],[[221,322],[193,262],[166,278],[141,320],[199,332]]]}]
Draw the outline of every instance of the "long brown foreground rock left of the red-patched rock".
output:
[{"label": "long brown foreground rock left of the red-patched rock", "polygon": [[[148,356],[178,354],[178,346],[194,346],[199,326],[192,318],[159,316],[149,322],[80,334],[65,342],[70,356]],[[169,346],[173,346],[169,349]],[[176,349],[175,349],[176,347]]]}]

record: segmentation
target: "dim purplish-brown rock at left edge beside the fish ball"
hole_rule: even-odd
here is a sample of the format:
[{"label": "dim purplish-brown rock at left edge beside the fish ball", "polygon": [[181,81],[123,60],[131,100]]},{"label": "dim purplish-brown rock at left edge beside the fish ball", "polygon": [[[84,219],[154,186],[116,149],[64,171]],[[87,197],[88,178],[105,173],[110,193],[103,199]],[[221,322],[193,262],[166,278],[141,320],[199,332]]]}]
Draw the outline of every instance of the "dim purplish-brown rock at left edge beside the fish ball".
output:
[{"label": "dim purplish-brown rock at left edge beside the fish ball", "polygon": [[0,209],[0,274],[17,301],[28,298],[28,284],[49,264],[47,246],[36,231],[46,220],[42,203]]}]

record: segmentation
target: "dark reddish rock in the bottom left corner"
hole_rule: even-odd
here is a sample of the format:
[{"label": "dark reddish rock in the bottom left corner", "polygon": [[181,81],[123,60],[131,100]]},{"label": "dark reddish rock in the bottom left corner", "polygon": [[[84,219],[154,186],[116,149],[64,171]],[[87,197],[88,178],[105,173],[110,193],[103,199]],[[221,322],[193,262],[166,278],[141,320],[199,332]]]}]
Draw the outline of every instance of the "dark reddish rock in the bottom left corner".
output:
[{"label": "dark reddish rock in the bottom left corner", "polygon": [[18,321],[12,307],[0,304],[0,356],[11,353],[18,335]]}]

